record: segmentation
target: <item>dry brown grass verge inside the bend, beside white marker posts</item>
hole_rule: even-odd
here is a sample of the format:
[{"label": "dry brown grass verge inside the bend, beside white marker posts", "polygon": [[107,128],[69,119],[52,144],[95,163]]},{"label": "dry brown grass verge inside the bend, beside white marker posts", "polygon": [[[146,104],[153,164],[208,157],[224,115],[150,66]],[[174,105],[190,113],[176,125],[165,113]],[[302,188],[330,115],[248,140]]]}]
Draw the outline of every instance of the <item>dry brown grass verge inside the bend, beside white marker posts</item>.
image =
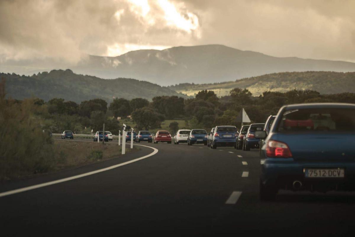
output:
[{"label": "dry brown grass verge inside the bend, beside white marker posts", "polygon": [[[140,150],[126,147],[126,154]],[[55,170],[83,166],[121,156],[122,147],[113,143],[54,141]]]}]

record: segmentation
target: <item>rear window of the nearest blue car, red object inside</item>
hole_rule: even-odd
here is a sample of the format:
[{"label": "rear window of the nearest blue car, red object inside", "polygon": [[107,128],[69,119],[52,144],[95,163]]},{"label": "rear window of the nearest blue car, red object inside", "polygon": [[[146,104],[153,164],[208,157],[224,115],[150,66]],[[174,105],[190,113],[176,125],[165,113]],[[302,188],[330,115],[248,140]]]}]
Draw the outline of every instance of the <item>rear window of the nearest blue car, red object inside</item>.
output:
[{"label": "rear window of the nearest blue car, red object inside", "polygon": [[281,132],[355,131],[355,109],[296,109],[284,112]]}]

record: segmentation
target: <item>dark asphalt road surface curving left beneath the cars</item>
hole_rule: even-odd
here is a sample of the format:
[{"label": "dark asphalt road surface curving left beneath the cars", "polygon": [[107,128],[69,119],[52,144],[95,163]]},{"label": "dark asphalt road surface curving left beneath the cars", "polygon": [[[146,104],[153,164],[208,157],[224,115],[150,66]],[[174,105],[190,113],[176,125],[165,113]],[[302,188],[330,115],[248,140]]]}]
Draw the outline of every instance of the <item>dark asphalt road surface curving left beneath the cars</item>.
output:
[{"label": "dark asphalt road surface curving left beneath the cars", "polygon": [[[1,197],[1,236],[354,235],[354,193],[283,191],[275,202],[260,202],[256,150],[138,144],[159,151],[115,169]],[[0,192],[152,152],[141,147],[124,158],[2,184]]]}]

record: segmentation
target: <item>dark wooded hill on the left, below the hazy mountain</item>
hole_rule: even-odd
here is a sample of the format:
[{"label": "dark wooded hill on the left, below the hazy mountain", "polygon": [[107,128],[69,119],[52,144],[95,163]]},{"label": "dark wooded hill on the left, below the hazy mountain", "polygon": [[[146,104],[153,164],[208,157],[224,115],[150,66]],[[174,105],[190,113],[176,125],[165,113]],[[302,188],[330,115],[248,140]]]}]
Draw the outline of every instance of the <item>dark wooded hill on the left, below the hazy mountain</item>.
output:
[{"label": "dark wooded hill on the left, below the hazy mountain", "polygon": [[158,95],[177,95],[174,90],[145,81],[129,78],[101,79],[73,73],[71,70],[52,70],[33,76],[20,76],[15,73],[0,73],[6,78],[7,97],[24,99],[38,97],[49,100],[54,97],[80,103],[83,100],[102,98],[111,101],[116,98],[145,98],[151,100]]}]

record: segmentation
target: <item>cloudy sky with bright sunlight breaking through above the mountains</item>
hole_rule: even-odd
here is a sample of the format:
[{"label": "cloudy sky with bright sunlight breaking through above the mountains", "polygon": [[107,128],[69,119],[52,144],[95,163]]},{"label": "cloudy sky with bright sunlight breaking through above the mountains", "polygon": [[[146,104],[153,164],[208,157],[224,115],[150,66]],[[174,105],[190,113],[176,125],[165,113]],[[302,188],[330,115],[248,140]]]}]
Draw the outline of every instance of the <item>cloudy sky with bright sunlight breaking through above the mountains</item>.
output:
[{"label": "cloudy sky with bright sunlight breaking through above the mountains", "polygon": [[0,62],[223,44],[355,62],[354,0],[1,0]]}]

